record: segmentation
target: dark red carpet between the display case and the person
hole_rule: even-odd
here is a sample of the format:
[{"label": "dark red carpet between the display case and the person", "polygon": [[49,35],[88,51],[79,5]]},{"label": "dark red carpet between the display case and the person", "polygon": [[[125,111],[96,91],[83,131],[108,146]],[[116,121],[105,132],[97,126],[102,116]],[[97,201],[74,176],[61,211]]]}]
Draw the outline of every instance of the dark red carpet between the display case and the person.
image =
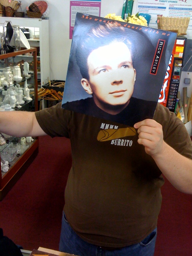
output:
[{"label": "dark red carpet between the display case and the person", "polygon": [[25,250],[59,249],[64,189],[71,167],[70,141],[39,138],[39,154],[0,202],[4,236]]}]

